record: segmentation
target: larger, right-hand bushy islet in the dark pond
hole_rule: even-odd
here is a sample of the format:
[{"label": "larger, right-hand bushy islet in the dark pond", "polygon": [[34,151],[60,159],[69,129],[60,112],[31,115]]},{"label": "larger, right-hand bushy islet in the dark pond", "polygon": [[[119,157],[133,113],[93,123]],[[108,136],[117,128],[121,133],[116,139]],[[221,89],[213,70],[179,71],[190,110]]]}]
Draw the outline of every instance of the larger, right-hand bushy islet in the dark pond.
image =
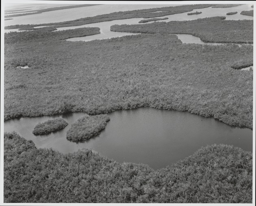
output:
[{"label": "larger, right-hand bushy islet in the dark pond", "polygon": [[71,125],[67,131],[67,139],[74,142],[90,139],[100,134],[109,120],[107,114],[84,116]]}]

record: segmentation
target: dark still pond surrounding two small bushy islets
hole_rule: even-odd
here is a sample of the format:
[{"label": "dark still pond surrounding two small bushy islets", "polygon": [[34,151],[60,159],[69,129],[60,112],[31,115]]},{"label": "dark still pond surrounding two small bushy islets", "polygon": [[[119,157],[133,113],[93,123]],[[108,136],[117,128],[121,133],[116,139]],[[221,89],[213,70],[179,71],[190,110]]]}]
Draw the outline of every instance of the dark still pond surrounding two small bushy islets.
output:
[{"label": "dark still pond surrounding two small bushy islets", "polygon": [[[231,127],[214,118],[189,112],[143,107],[110,113],[111,120],[100,135],[86,142],[66,139],[66,131],[86,114],[21,118],[4,122],[4,131],[17,131],[31,139],[38,148],[53,148],[63,153],[91,148],[118,162],[145,163],[154,169],[171,165],[211,144],[232,144],[252,151],[252,130]],[[35,136],[32,131],[38,122],[62,116],[69,125],[50,135]]]}]

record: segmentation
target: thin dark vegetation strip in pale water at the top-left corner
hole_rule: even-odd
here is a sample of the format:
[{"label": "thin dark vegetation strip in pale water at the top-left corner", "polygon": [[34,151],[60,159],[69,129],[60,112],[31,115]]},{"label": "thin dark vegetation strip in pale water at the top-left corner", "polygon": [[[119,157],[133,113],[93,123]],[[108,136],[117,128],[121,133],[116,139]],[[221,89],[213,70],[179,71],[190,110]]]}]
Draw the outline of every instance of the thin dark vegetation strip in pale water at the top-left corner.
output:
[{"label": "thin dark vegetation strip in pale water at the top-left corner", "polygon": [[[72,5],[72,6],[59,6],[59,7],[47,8],[47,9],[33,10],[34,11],[33,13],[26,13],[28,11],[22,11],[22,10],[9,10],[9,12],[12,11],[12,13],[17,13],[17,11],[18,11],[19,14],[9,13],[8,15],[4,16],[4,18],[6,18],[6,17],[19,17],[19,16],[32,15],[32,14],[33,15],[34,14],[41,14],[41,13],[47,12],[47,11],[56,11],[56,10],[62,10],[62,9],[73,9],[73,8],[78,8],[78,7],[94,6],[94,5],[98,5],[98,4],[80,4],[80,5]],[[31,11],[29,11],[29,12],[31,12]]]}]

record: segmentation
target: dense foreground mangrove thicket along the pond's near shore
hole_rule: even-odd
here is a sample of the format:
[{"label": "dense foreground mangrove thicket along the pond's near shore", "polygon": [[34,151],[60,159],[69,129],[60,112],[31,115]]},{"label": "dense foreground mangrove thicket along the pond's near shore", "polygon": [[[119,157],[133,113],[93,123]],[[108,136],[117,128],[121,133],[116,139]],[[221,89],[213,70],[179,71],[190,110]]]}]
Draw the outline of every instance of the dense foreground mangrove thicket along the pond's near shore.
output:
[{"label": "dense foreground mangrove thicket along the pond's near shore", "polygon": [[206,146],[161,170],[4,134],[4,202],[252,203],[252,152]]}]

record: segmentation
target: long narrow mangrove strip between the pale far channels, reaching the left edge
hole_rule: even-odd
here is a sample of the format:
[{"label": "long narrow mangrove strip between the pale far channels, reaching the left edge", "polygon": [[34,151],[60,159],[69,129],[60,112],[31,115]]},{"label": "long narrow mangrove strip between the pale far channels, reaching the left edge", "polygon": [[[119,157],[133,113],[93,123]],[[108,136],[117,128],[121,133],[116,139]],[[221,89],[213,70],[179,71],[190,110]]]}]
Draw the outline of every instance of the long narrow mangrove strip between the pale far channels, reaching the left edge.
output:
[{"label": "long narrow mangrove strip between the pale far channels, reaching the left edge", "polygon": [[[195,4],[195,5],[181,5],[181,6],[168,6],[153,9],[140,9],[134,11],[120,11],[113,12],[109,14],[97,15],[94,17],[85,17],[81,19],[76,19],[72,21],[63,21],[59,23],[49,23],[49,24],[28,24],[28,25],[11,25],[5,26],[5,29],[17,29],[28,30],[28,28],[34,29],[34,26],[48,26],[47,28],[59,28],[68,26],[80,26],[85,24],[97,23],[102,21],[113,21],[117,19],[130,19],[130,18],[153,18],[161,17],[171,14],[184,13],[193,11],[193,9],[202,9],[209,6],[214,6],[216,4]],[[158,11],[158,12],[156,12]],[[162,11],[162,12],[159,12]]]}]

